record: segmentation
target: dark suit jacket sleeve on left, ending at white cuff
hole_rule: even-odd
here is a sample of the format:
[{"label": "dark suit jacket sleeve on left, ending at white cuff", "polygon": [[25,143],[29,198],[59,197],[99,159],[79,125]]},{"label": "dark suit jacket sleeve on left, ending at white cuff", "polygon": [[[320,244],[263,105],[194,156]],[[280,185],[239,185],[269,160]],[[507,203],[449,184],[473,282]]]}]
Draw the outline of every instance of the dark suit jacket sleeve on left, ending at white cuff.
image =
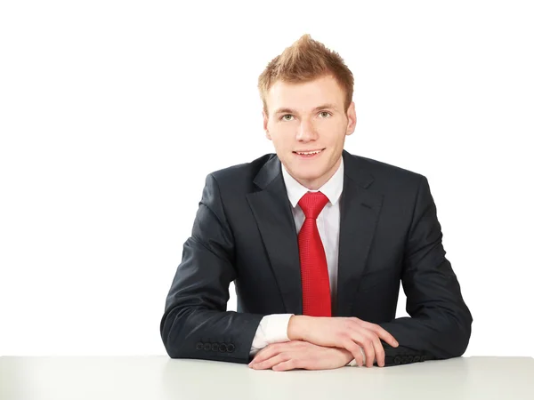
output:
[{"label": "dark suit jacket sleeve on left, ending at white cuff", "polygon": [[160,324],[169,356],[249,362],[263,316],[226,311],[235,278],[233,235],[217,181],[210,174]]}]

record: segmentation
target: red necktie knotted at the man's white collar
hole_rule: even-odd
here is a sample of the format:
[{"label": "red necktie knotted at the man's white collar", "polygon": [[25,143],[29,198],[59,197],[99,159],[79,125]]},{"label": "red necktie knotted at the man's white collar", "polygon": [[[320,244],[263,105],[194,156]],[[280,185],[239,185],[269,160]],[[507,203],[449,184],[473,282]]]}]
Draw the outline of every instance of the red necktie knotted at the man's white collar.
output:
[{"label": "red necktie knotted at the man's white collar", "polygon": [[317,228],[317,217],[327,203],[321,192],[308,192],[298,202],[306,216],[298,233],[304,316],[332,315],[327,256]]}]

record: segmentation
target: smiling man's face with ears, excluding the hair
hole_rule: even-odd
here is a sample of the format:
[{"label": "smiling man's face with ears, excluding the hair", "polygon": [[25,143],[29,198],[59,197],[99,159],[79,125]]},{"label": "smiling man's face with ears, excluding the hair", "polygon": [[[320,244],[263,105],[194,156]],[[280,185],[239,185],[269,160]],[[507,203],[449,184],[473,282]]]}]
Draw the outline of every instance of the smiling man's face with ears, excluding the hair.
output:
[{"label": "smiling man's face with ears, excluding the hair", "polygon": [[[344,112],[344,91],[332,76],[291,84],[277,81],[266,96],[263,129],[287,172],[306,188],[326,183],[341,163],[345,135],[354,132],[354,102]],[[303,154],[314,152],[315,154]]]}]

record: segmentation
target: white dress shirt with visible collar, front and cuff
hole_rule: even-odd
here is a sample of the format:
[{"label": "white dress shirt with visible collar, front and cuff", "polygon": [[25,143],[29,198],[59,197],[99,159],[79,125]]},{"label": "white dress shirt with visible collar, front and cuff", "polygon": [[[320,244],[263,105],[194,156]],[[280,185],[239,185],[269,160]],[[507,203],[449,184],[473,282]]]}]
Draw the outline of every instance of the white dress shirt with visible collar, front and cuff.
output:
[{"label": "white dress shirt with visible collar, front and cuff", "polygon": [[[287,188],[287,197],[292,205],[293,218],[295,219],[296,232],[300,232],[305,220],[304,212],[298,205],[299,200],[307,192],[322,192],[328,197],[328,203],[320,212],[317,218],[317,228],[319,229],[320,240],[325,249],[328,265],[328,276],[330,278],[330,295],[332,307],[336,309],[337,293],[337,257],[339,250],[339,198],[343,191],[344,164],[343,158],[337,171],[319,190],[309,190],[298,183],[295,178],[289,175],[282,164],[282,174]],[[250,354],[254,356],[261,348],[271,343],[289,341],[287,338],[287,325],[289,318],[293,314],[272,314],[263,316],[260,325],[252,341]]]}]

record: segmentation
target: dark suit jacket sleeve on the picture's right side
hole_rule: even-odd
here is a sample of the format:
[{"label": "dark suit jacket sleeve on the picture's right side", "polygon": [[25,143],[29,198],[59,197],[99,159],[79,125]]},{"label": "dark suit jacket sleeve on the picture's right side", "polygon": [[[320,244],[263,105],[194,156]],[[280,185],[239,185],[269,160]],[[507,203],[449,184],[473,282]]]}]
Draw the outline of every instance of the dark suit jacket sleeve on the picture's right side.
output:
[{"label": "dark suit jacket sleeve on the picture's right side", "polygon": [[383,342],[386,365],[461,356],[467,348],[473,318],[441,237],[433,196],[422,176],[401,276],[410,317],[380,324],[400,344],[392,348]]}]

